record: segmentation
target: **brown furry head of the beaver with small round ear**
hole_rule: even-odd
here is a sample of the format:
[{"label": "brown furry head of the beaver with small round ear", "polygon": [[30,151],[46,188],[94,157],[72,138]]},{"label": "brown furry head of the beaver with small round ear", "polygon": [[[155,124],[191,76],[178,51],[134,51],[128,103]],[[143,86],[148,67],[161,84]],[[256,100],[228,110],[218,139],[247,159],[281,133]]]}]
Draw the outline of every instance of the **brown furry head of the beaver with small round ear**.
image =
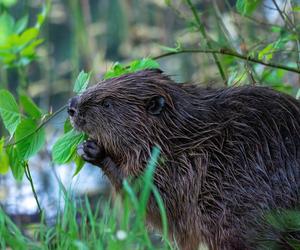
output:
[{"label": "brown furry head of the beaver with small round ear", "polygon": [[153,146],[171,150],[169,139],[178,136],[185,120],[179,113],[184,116],[187,100],[180,85],[160,70],[143,70],[89,88],[71,99],[68,112],[73,126],[115,162],[141,166]]}]

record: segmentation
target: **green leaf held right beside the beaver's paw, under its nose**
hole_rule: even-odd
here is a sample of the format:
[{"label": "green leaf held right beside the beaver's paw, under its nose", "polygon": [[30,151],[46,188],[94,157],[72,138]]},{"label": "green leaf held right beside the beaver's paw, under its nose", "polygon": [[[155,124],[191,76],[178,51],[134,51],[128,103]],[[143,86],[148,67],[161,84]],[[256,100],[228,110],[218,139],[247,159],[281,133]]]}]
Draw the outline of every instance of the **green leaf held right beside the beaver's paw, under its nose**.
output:
[{"label": "green leaf held right beside the beaver's paw, under its nose", "polygon": [[85,138],[84,133],[78,133],[74,129],[60,137],[52,148],[52,159],[55,163],[67,163],[77,149],[79,143]]}]

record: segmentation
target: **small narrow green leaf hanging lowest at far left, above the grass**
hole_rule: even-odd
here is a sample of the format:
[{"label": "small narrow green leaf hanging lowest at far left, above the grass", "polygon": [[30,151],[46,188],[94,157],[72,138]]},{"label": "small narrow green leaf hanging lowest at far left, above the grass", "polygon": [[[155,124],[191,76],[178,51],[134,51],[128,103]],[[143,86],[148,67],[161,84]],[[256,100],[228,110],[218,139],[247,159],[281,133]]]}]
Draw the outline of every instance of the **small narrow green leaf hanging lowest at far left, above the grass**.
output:
[{"label": "small narrow green leaf hanging lowest at far left, above the grass", "polygon": [[13,173],[14,178],[17,181],[21,181],[23,179],[23,175],[24,175],[25,161],[23,161],[20,158],[20,156],[17,152],[17,147],[14,145],[7,147],[6,152],[8,154],[9,166]]}]

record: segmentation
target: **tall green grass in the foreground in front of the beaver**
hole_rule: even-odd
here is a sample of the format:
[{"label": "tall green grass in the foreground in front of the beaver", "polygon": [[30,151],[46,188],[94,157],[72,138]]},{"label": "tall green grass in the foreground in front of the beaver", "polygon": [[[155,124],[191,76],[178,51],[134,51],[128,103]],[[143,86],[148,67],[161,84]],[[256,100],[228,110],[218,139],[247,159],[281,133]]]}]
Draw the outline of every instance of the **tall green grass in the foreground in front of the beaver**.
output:
[{"label": "tall green grass in the foreground in front of the beaver", "polygon": [[[75,202],[70,192],[62,192],[63,209],[58,209],[55,223],[42,222],[23,232],[0,210],[1,249],[172,249],[168,240],[167,217],[159,192],[153,185],[153,173],[159,158],[152,158],[138,192],[124,181],[124,192],[114,201],[99,200],[95,208],[88,198]],[[137,195],[137,193],[139,195]],[[145,221],[147,201],[153,195],[161,212],[162,236],[151,232]]]}]

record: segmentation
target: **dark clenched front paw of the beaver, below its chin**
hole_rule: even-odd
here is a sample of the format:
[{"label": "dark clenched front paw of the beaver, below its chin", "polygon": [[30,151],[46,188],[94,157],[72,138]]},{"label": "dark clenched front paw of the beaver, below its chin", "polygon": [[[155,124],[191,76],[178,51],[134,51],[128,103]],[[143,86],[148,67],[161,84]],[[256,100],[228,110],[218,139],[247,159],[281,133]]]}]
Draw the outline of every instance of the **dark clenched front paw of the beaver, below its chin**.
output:
[{"label": "dark clenched front paw of the beaver, below its chin", "polygon": [[105,158],[105,151],[103,147],[99,146],[93,140],[87,140],[77,147],[77,154],[83,160],[90,162],[94,165],[99,165]]}]

